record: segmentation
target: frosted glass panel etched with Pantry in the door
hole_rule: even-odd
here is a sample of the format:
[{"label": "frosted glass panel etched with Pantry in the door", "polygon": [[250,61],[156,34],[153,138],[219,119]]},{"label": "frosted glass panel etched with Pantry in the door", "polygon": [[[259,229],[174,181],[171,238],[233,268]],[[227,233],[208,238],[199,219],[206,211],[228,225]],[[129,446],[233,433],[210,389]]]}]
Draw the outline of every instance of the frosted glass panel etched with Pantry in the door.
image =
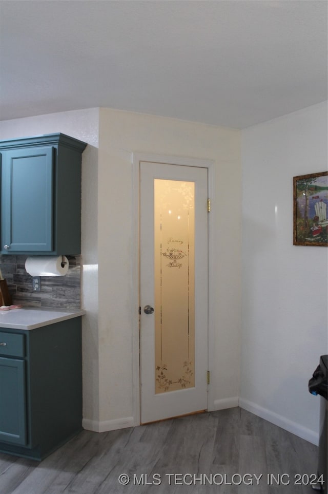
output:
[{"label": "frosted glass panel etched with Pantry in the door", "polygon": [[155,393],[195,383],[195,184],[154,180]]}]

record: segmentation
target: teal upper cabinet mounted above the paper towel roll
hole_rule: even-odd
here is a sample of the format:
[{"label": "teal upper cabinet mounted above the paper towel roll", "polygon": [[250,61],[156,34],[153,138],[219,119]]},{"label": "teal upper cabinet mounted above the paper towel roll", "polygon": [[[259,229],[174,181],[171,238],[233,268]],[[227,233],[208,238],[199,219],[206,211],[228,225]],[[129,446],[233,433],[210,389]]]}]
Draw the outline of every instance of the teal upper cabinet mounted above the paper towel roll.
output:
[{"label": "teal upper cabinet mounted above the paper towel roll", "polygon": [[2,254],[80,253],[86,145],[65,134],[0,141]]}]

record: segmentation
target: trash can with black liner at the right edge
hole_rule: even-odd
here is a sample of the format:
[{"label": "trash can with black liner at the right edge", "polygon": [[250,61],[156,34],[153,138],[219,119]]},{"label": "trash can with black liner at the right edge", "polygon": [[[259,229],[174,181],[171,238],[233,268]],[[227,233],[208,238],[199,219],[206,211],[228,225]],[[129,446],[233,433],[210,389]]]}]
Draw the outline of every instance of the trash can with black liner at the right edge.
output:
[{"label": "trash can with black liner at the right edge", "polygon": [[321,486],[318,484],[317,489],[324,494],[327,494],[327,359],[328,355],[321,355],[320,363],[309,381],[310,393],[320,395],[318,478],[322,475],[324,482]]}]

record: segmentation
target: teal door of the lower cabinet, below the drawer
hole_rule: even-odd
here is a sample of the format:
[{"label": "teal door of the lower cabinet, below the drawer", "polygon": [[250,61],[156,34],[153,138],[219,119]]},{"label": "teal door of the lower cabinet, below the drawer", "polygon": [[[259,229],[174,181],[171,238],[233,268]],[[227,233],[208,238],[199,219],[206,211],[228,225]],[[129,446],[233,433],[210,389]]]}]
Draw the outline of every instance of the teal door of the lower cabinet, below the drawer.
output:
[{"label": "teal door of the lower cabinet, below the drawer", "polygon": [[25,361],[0,357],[0,441],[26,444]]}]

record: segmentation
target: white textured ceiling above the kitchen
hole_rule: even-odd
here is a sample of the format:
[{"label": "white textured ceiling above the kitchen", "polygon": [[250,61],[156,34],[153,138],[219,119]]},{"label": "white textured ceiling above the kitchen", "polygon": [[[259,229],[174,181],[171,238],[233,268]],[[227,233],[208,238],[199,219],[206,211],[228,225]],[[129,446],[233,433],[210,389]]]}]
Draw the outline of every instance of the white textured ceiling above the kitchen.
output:
[{"label": "white textured ceiling above the kitchen", "polygon": [[1,0],[0,118],[110,107],[244,128],[327,99],[327,2]]}]

